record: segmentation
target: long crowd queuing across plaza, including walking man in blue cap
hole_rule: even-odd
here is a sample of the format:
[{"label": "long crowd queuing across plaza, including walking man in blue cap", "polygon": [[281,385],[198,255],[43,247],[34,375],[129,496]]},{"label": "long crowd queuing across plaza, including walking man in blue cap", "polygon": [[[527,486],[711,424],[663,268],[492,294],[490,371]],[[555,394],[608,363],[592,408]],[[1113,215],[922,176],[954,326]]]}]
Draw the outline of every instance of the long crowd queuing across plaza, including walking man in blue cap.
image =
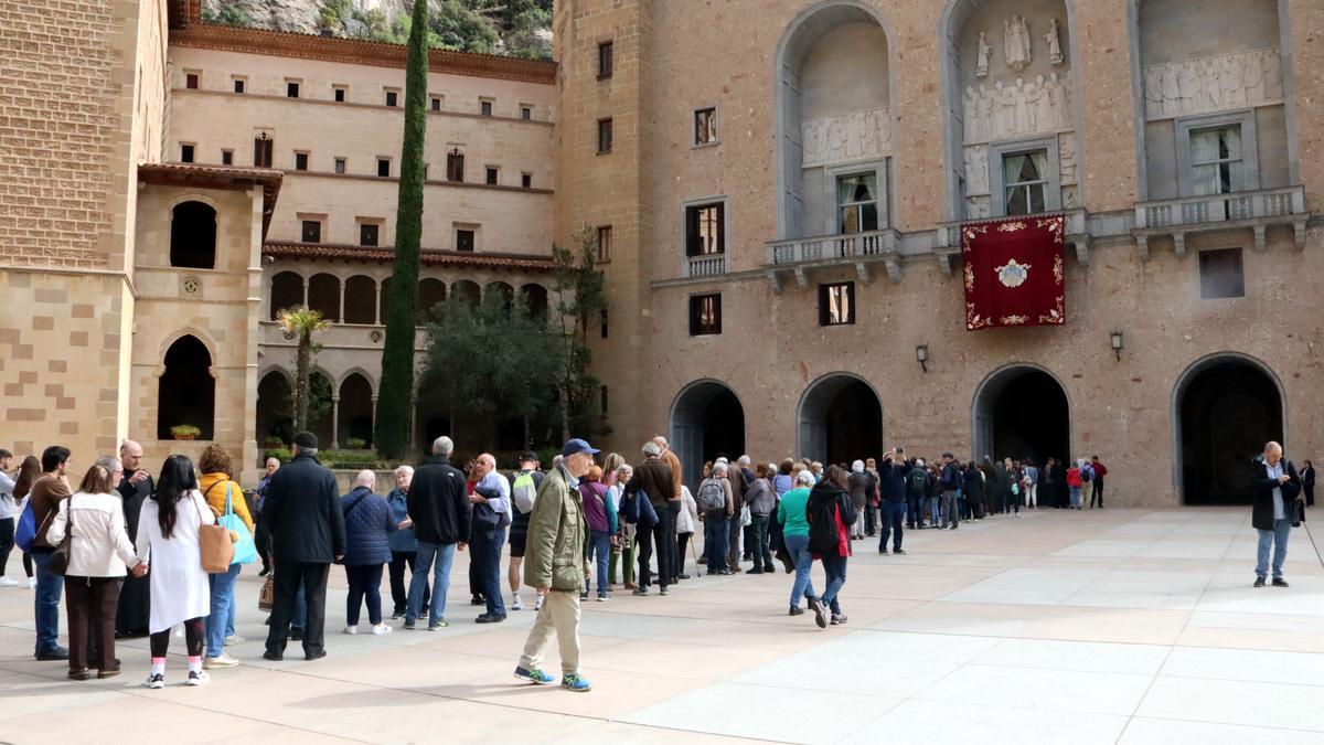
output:
[{"label": "long crowd queuing across plaza, including walking man in blue cap", "polygon": [[[579,671],[581,601],[669,595],[704,573],[794,574],[790,615],[812,614],[821,628],[847,622],[842,610],[853,544],[879,537],[880,554],[904,554],[906,529],[956,530],[963,520],[1019,516],[1021,509],[1103,508],[1107,468],[1098,457],[1070,464],[985,456],[961,463],[952,453],[907,457],[900,448],[882,459],[829,464],[786,459],[756,464],[749,456],[718,456],[691,490],[681,460],[665,437],[643,444],[634,464],[620,453],[598,461],[583,440],[567,443],[544,471],[538,455],[519,456],[499,472],[490,453],[462,468],[451,464],[448,437],[432,445],[417,468],[395,471],[396,485],[376,490],[363,471],[340,494],[335,475],[316,457],[316,437],[301,432],[293,459],[266,463],[249,500],[234,481],[234,463],[217,444],[199,463],[169,456],[159,477],[140,468],[142,445],[126,440],[118,457],[99,457],[70,487],[71,456],[50,447],[26,457],[11,477],[12,456],[0,451],[0,578],[17,528],[36,589],[36,658],[68,660],[77,680],[119,673],[115,639],[147,635],[147,685],[166,680],[172,634],[183,635],[185,684],[209,669],[238,664],[225,648],[236,634],[234,589],[245,563],[261,559],[270,603],[263,656],[282,660],[289,642],[305,659],[326,655],[326,589],[332,563],[348,585],[346,634],[357,634],[363,608],[368,630],[446,628],[446,597],[457,551],[469,551],[475,623],[500,623],[526,602],[538,612],[516,677],[548,684],[542,671],[552,638],[560,642],[561,684],[591,685]],[[204,534],[213,526],[234,544],[228,569],[204,569]],[[698,555],[695,534],[703,534]],[[502,558],[507,551],[506,571]],[[687,566],[694,559],[694,575]],[[824,570],[822,590],[810,577]],[[749,566],[745,567],[744,563]],[[383,575],[389,577],[389,618]],[[504,587],[503,587],[504,579]],[[0,586],[17,585],[3,579]],[[57,643],[65,595],[69,647]],[[392,626],[391,620],[400,622]]]}]

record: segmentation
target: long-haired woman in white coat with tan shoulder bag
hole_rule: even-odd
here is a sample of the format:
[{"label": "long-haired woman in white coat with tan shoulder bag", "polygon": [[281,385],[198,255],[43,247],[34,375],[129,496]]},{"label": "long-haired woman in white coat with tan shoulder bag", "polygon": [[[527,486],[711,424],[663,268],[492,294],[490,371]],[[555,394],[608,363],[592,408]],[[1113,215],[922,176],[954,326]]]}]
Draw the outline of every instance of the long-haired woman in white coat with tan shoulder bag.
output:
[{"label": "long-haired woman in white coat with tan shoulder bag", "polygon": [[138,520],[138,558],[151,567],[152,612],[147,630],[152,635],[152,672],[146,683],[148,688],[166,687],[166,652],[176,623],[184,624],[188,685],[208,680],[203,672],[203,644],[212,599],[197,533],[200,526],[213,522],[216,517],[197,490],[193,461],[181,455],[166,459],[156,493],[143,502]]}]

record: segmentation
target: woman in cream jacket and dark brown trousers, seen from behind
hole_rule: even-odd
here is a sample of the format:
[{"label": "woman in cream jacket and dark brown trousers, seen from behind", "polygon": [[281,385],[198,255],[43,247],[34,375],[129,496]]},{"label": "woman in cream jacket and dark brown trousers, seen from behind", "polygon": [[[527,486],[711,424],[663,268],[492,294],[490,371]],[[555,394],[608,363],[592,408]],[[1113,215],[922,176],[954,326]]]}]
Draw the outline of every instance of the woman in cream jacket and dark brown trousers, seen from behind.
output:
[{"label": "woman in cream jacket and dark brown trousers, seen from behind", "polygon": [[[65,611],[69,614],[69,677],[87,680],[89,665],[97,677],[119,675],[115,659],[115,607],[119,581],[126,567],[142,577],[147,567],[134,554],[124,529],[124,508],[114,492],[124,469],[119,459],[94,464],[78,492],[60,502],[60,512],[46,530],[46,541],[58,546],[69,536],[69,566],[65,570]],[[91,642],[91,644],[89,644]],[[89,659],[89,648],[95,659]]]}]

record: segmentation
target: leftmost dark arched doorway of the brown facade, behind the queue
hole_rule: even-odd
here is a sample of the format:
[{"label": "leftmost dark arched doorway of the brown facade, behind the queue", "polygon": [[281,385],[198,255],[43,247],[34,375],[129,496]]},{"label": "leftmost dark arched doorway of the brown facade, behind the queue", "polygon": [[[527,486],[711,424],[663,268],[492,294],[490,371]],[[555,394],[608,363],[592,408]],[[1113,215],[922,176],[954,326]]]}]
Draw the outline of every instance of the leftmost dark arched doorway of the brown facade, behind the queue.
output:
[{"label": "leftmost dark arched doorway of the brown facade, behind the queue", "polygon": [[744,455],[744,407],[735,391],[718,380],[691,383],[671,404],[670,445],[681,459],[685,483],[696,489],[703,463],[718,453]]}]

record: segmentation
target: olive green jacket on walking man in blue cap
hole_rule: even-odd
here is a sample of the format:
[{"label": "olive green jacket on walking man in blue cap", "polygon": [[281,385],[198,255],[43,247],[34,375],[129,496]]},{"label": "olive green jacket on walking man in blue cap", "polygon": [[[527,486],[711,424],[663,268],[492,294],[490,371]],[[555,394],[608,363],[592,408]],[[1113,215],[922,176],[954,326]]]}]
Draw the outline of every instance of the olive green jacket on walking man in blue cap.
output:
[{"label": "olive green jacket on walking man in blue cap", "polygon": [[530,587],[573,593],[584,589],[588,525],[584,522],[583,497],[569,484],[565,469],[556,467],[547,472],[538,488],[524,547],[524,583]]}]

